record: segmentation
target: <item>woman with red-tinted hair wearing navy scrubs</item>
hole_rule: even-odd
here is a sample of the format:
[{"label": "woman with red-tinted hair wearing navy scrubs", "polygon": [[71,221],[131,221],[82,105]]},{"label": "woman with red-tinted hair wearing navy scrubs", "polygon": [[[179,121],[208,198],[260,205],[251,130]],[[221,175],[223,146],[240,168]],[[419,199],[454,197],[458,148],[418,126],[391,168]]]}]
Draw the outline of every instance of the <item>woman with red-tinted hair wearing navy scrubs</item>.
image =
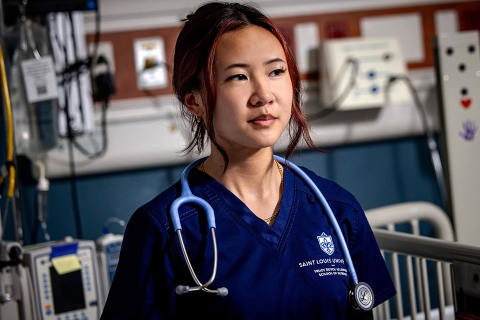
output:
[{"label": "woman with red-tinted hair wearing navy scrubs", "polygon": [[[169,216],[177,182],[131,216],[102,318],[372,318],[349,303],[351,275],[322,205],[273,157],[287,126],[286,157],[301,138],[315,148],[300,109],[298,69],[273,22],[253,6],[200,6],[178,36],[173,87],[192,127],[187,150],[210,145],[188,182],[215,212],[218,269],[210,287],[228,294],[175,293],[178,285],[195,285]],[[390,298],[395,289],[358,202],[304,171],[334,212],[374,305]],[[213,267],[205,214],[195,205],[178,211],[186,251],[204,283]]]}]

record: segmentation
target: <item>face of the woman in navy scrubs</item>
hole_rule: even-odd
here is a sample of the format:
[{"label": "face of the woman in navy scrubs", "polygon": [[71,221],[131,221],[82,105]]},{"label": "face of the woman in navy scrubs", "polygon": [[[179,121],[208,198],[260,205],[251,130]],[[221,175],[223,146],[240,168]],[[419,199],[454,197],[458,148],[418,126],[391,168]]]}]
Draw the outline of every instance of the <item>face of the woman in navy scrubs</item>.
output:
[{"label": "face of the woman in navy scrubs", "polygon": [[290,119],[292,84],[278,39],[252,25],[220,36],[214,58],[216,142],[229,151],[270,147]]}]

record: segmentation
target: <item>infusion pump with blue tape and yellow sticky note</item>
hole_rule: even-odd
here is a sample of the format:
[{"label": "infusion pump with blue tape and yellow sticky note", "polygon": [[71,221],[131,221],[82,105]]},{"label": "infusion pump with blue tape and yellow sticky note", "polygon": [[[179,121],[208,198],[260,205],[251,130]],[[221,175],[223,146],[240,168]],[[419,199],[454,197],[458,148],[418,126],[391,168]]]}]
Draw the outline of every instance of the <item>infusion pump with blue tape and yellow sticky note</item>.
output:
[{"label": "infusion pump with blue tape and yellow sticky note", "polygon": [[66,238],[23,247],[39,320],[96,320],[103,306],[95,242]]}]

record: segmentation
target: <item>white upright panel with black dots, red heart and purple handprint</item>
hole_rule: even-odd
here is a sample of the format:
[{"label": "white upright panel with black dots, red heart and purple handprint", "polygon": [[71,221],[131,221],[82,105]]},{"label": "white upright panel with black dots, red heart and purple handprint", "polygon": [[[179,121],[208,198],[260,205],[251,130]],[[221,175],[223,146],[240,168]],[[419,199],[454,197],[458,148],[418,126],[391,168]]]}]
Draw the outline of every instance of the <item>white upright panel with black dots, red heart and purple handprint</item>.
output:
[{"label": "white upright panel with black dots, red heart and purple handprint", "polygon": [[480,207],[478,38],[474,30],[441,33],[433,41],[449,209],[457,239],[475,245],[480,243],[476,227]]}]

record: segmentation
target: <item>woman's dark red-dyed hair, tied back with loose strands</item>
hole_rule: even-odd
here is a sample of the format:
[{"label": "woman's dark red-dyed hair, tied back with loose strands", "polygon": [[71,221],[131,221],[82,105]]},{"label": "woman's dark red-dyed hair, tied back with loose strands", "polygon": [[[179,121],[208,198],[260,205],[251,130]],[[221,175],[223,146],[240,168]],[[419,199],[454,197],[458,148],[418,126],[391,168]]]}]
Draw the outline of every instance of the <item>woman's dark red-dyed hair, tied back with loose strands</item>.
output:
[{"label": "woman's dark red-dyed hair, tied back with loose strands", "polygon": [[278,27],[258,7],[235,2],[209,2],[201,5],[196,11],[187,15],[185,24],[180,31],[173,58],[173,90],[179,101],[185,105],[185,96],[188,93],[200,94],[205,103],[205,121],[198,123],[195,116],[182,108],[183,116],[191,125],[190,141],[185,151],[203,150],[205,139],[218,148],[225,159],[228,158],[224,150],[217,145],[213,130],[213,108],[216,101],[216,80],[213,69],[218,38],[230,31],[249,25],[257,25],[271,32],[280,42],[286,56],[288,72],[293,86],[292,108],[288,132],[290,142],[285,149],[288,158],[295,150],[303,137],[307,145],[317,149],[310,137],[309,126],[301,110],[301,81],[300,73],[292,50]]}]

